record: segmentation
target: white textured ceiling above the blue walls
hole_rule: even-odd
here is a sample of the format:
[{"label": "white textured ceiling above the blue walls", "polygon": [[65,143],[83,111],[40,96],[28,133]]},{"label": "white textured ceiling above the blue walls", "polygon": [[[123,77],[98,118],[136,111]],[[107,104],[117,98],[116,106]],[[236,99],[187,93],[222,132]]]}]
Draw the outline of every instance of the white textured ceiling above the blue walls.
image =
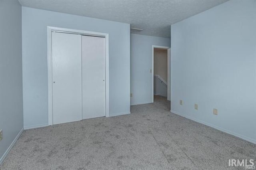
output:
[{"label": "white textured ceiling above the blue walls", "polygon": [[131,24],[131,31],[170,37],[170,25],[228,0],[19,0],[22,6]]}]

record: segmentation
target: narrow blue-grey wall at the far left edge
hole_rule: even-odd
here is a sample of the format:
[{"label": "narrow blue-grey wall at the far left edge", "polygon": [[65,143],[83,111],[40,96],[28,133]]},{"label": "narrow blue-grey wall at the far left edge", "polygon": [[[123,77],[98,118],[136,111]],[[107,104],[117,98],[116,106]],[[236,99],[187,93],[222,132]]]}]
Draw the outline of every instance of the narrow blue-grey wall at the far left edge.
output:
[{"label": "narrow blue-grey wall at the far left edge", "polygon": [[21,6],[0,0],[0,162],[23,128]]}]

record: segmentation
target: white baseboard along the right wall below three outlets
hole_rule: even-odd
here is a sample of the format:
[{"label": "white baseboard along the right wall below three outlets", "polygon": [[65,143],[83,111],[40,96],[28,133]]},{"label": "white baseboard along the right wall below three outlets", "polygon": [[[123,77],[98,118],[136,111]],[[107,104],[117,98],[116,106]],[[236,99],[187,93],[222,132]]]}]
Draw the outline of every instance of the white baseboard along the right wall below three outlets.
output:
[{"label": "white baseboard along the right wall below three outlets", "polygon": [[217,127],[217,126],[215,126],[215,125],[211,125],[211,124],[206,123],[206,122],[204,122],[204,121],[200,121],[200,120],[198,120],[198,119],[195,119],[195,118],[192,118],[192,117],[183,115],[183,114],[178,113],[178,112],[173,111],[173,110],[171,110],[171,112],[174,113],[174,114],[176,114],[176,115],[180,115],[180,116],[185,117],[185,118],[187,118],[187,119],[190,119],[190,120],[192,120],[192,121],[195,121],[195,122],[198,122],[198,123],[202,123],[202,124],[204,124],[204,125],[206,125],[206,126],[208,126],[208,127],[215,128],[215,129],[220,130],[220,131],[222,131],[222,132],[231,134],[231,135],[233,135],[233,136],[236,136],[236,137],[238,137],[238,138],[242,138],[242,139],[244,139],[244,140],[247,140],[247,141],[249,141],[249,142],[252,142],[252,143],[256,144],[256,140],[254,140],[254,139],[252,139],[252,138],[248,138],[248,137],[243,136],[243,135],[241,135],[241,134],[238,134],[238,133],[236,133],[236,132],[232,132],[232,131],[230,131],[230,130],[226,130],[226,129],[224,129],[224,128]]}]

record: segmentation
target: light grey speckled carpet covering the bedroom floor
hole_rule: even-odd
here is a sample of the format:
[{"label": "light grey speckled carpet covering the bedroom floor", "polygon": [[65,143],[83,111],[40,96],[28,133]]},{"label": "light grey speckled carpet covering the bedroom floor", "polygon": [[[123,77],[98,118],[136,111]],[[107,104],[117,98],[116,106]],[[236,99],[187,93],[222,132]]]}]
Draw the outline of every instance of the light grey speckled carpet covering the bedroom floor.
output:
[{"label": "light grey speckled carpet covering the bedroom floor", "polygon": [[[166,98],[130,115],[26,130],[1,170],[227,169],[256,145],[170,113]],[[242,169],[245,169],[244,167]]]}]

